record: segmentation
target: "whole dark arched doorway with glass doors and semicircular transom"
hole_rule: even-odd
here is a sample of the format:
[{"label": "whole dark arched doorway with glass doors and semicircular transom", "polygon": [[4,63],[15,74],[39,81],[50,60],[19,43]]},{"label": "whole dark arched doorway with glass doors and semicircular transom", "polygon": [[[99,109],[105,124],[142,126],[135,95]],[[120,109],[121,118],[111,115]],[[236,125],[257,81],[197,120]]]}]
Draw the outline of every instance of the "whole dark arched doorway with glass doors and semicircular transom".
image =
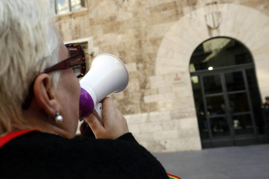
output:
[{"label": "whole dark arched doorway with glass doors and semicircular transom", "polygon": [[189,70],[203,148],[266,140],[253,58],[243,44],[206,40],[192,53]]}]

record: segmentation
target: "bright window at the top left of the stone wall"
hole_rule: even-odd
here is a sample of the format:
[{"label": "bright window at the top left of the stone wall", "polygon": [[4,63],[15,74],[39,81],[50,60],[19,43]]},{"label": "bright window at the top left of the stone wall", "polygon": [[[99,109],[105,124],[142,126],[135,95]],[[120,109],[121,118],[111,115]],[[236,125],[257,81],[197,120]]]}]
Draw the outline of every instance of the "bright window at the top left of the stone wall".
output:
[{"label": "bright window at the top left of the stone wall", "polygon": [[51,0],[56,14],[66,14],[85,7],[85,0]]}]

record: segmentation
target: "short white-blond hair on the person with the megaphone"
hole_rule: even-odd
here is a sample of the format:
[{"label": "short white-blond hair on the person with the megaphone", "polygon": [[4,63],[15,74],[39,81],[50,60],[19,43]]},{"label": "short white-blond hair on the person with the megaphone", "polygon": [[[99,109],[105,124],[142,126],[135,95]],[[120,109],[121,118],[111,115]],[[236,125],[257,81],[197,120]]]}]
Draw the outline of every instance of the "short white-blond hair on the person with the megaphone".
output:
[{"label": "short white-blond hair on the person with the megaphone", "polygon": [[[58,62],[52,9],[46,0],[0,1],[0,135],[24,120],[21,106],[30,84]],[[55,88],[59,72],[49,75]]]}]

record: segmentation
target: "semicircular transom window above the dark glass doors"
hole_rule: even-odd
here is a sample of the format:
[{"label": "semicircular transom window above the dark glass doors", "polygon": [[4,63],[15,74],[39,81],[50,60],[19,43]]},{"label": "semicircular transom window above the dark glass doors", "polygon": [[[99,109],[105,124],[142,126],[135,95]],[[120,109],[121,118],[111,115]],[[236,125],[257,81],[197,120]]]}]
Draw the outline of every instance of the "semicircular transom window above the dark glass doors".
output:
[{"label": "semicircular transom window above the dark glass doors", "polygon": [[200,44],[190,59],[190,72],[253,63],[247,48],[232,38],[211,38]]}]

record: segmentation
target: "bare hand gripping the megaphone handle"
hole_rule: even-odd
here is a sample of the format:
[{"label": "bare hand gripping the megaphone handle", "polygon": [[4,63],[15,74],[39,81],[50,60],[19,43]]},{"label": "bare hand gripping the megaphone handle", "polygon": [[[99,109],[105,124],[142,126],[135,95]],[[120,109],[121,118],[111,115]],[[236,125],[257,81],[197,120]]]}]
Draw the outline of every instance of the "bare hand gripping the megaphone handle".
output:
[{"label": "bare hand gripping the megaphone handle", "polygon": [[113,100],[106,97],[103,100],[103,122],[102,124],[94,114],[90,114],[84,120],[89,124],[95,138],[116,139],[129,132],[126,119],[115,107]]}]

